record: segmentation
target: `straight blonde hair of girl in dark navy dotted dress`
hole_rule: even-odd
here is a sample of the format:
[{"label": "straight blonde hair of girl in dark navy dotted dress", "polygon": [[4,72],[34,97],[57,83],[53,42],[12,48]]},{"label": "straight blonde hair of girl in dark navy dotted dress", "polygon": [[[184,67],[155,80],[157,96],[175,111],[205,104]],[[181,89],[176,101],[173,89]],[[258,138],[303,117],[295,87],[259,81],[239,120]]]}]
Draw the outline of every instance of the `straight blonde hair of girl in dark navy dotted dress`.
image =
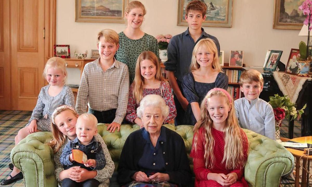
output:
[{"label": "straight blonde hair of girl in dark navy dotted dress", "polygon": [[202,48],[205,48],[206,50],[208,50],[210,53],[213,54],[212,69],[214,69],[217,72],[222,72],[222,68],[219,63],[217,46],[215,42],[210,38],[201,39],[195,45],[193,49],[193,53],[192,53],[192,62],[190,65],[190,70],[193,71],[193,70],[197,70],[200,68],[200,65],[197,63],[197,60],[196,60],[196,55],[198,51],[201,50]]}]

